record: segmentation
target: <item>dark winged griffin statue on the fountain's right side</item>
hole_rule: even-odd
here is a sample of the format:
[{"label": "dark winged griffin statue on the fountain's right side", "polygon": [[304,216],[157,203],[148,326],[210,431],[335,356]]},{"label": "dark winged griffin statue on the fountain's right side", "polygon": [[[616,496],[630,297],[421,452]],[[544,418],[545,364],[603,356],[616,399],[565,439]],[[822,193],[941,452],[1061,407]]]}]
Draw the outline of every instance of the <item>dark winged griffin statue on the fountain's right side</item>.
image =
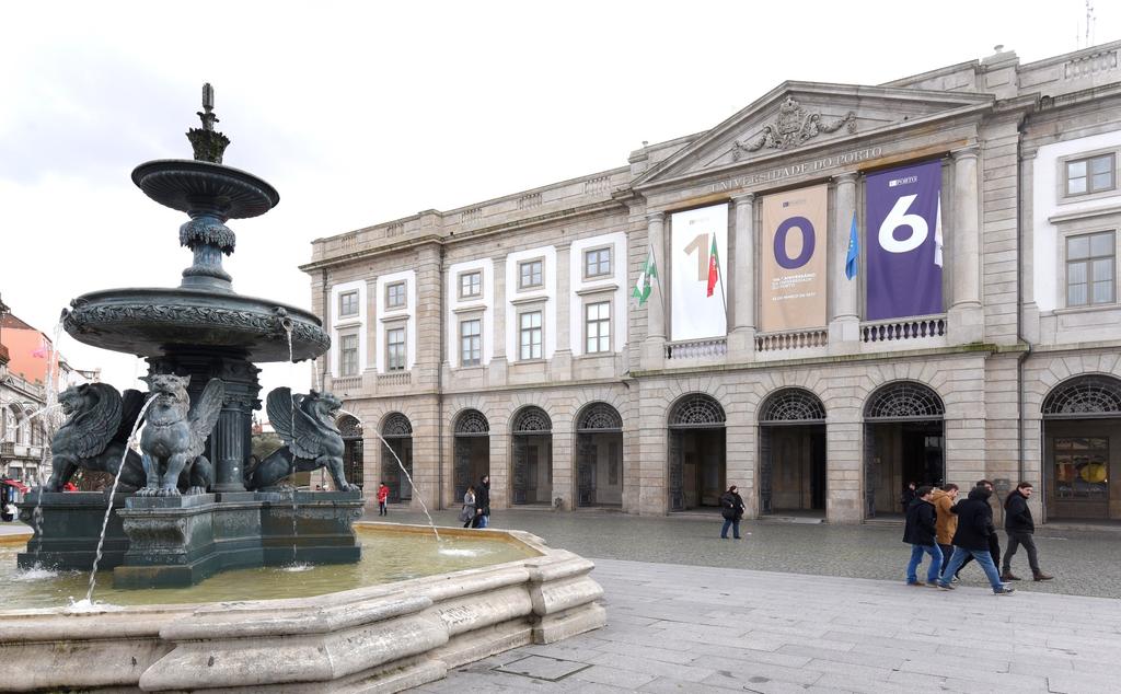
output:
[{"label": "dark winged griffin statue on the fountain's right side", "polygon": [[269,422],[285,445],[247,471],[245,487],[267,489],[294,472],[326,468],[335,489],[356,490],[343,475],[343,437],[334,418],[340,407],[342,402],[330,392],[293,395],[289,388],[270,392],[266,399]]}]

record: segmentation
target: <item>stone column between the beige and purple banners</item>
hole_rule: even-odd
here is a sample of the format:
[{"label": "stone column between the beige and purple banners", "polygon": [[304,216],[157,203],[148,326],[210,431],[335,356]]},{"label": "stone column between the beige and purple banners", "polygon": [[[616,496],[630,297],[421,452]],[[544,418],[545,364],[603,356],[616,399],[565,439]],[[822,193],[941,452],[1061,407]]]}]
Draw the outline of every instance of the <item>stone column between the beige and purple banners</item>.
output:
[{"label": "stone column between the beige and purple banners", "polygon": [[[830,256],[826,263],[830,288],[830,352],[855,352],[860,344],[860,281],[845,275],[844,259],[849,252],[852,215],[856,212],[855,172],[834,178],[835,196]],[[865,234],[867,238],[867,234]]]}]

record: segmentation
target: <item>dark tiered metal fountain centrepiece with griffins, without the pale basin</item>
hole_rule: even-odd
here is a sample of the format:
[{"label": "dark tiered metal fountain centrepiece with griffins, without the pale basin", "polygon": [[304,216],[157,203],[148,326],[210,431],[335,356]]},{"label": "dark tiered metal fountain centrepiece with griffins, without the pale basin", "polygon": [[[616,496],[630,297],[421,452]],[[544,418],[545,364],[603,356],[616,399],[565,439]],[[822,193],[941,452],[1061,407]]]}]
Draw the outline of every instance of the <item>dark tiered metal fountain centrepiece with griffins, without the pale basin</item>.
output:
[{"label": "dark tiered metal fountain centrepiece with griffins, without the pale basin", "polygon": [[[194,252],[194,262],[179,286],[92,292],[63,312],[75,340],[147,359],[145,380],[157,401],[147,416],[143,455],[128,453],[123,465],[112,455],[101,460],[105,450],[117,459],[124,454],[143,394],[117,396],[120,404],[103,385],[63,394],[71,419],[56,436],[47,489],[25,507],[43,516],[21,565],[90,570],[110,501],[119,510],[110,518],[100,567],[113,568],[117,586],[179,586],[226,568],[345,563],[361,554],[351,524],[361,516],[362,499],[339,479],[342,447],[331,409],[341,404],[330,394],[284,389],[270,399],[274,426],[287,445],[266,470],[248,469],[252,413],[261,405],[254,364],[314,359],[330,339],[313,314],[233,290],[222,259],[233,253],[237,238],[225,223],[265,214],[280,198],[265,181],[222,164],[230,140],[214,130],[213,99],[207,84],[202,127],[187,133],[194,159],[159,159],[132,172],[145,194],[191,218],[179,228],[179,244]],[[99,445],[103,451],[94,451]],[[277,489],[308,460],[331,469],[337,491]],[[58,493],[77,468],[119,473],[139,491],[111,498]]]}]

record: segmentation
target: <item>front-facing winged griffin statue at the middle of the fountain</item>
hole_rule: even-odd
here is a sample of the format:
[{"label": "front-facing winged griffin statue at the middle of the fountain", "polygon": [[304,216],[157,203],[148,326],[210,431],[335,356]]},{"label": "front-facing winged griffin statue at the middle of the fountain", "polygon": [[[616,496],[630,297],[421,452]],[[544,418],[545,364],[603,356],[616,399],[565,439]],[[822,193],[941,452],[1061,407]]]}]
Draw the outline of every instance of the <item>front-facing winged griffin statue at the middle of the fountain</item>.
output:
[{"label": "front-facing winged griffin statue at the middle of the fountain", "polygon": [[142,497],[178,497],[179,478],[186,478],[186,494],[206,493],[213,482],[211,463],[203,455],[206,437],[217,423],[225,383],[212,378],[191,407],[189,376],[156,373],[145,379],[155,401],[140,436],[141,462],[147,476]]}]

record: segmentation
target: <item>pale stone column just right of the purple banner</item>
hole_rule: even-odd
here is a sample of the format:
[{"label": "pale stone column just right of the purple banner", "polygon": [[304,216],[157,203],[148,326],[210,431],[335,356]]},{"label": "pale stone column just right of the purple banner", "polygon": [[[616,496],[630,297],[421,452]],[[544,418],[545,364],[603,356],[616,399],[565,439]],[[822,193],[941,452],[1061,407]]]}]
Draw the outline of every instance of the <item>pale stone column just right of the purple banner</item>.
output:
[{"label": "pale stone column just right of the purple banner", "polygon": [[981,311],[981,214],[978,205],[976,145],[952,152],[954,157],[954,226],[951,272],[949,341],[980,342],[984,332]]}]

